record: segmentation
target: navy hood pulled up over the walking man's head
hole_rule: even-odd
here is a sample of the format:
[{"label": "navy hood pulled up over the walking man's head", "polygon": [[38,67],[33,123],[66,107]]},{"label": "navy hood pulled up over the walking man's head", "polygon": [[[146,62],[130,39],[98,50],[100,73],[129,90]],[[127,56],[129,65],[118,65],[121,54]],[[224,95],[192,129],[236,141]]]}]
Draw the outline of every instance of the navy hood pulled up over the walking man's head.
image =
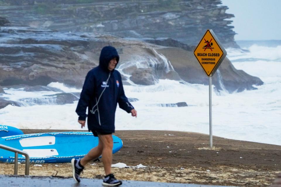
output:
[{"label": "navy hood pulled up over the walking man's head", "polygon": [[111,59],[115,58],[115,57],[116,57],[116,61],[117,61],[117,64],[118,64],[119,55],[118,55],[117,50],[112,46],[105,46],[104,48],[102,48],[102,51],[100,52],[100,65],[99,66],[103,70],[109,71],[108,70],[109,61]]}]

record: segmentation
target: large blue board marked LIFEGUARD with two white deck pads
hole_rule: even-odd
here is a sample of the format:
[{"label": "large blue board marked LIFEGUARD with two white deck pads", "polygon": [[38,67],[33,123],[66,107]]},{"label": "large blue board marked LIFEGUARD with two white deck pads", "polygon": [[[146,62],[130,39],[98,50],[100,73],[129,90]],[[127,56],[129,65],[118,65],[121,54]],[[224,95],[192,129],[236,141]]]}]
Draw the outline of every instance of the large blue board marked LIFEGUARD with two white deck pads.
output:
[{"label": "large blue board marked LIFEGUARD with two white deck pads", "polygon": [[[112,135],[113,153],[123,146],[122,140]],[[29,154],[30,163],[63,163],[72,158],[84,157],[99,143],[92,132],[36,133],[0,138],[0,144],[23,150]],[[15,153],[0,149],[0,162],[13,163]],[[25,156],[18,154],[18,162],[25,163]]]}]

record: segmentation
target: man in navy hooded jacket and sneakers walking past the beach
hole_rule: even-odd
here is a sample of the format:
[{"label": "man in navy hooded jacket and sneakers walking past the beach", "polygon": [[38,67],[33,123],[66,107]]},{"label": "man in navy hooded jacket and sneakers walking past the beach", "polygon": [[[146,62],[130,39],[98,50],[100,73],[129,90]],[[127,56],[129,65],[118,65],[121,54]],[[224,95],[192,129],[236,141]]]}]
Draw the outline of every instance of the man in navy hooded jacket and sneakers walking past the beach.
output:
[{"label": "man in navy hooded jacket and sneakers walking past the beach", "polygon": [[98,136],[99,144],[92,148],[82,159],[72,159],[71,166],[73,178],[80,182],[80,173],[84,166],[102,155],[105,177],[103,185],[119,186],[122,181],[115,179],[111,173],[112,165],[112,133],[115,131],[115,111],[119,107],[132,116],[137,117],[137,111],[125,96],[121,75],[114,70],[119,62],[119,55],[112,46],[106,46],[100,53],[100,64],[90,70],[85,78],[85,83],[76,108],[78,122],[81,128],[85,127],[86,108],[88,107],[88,129],[94,136]]}]

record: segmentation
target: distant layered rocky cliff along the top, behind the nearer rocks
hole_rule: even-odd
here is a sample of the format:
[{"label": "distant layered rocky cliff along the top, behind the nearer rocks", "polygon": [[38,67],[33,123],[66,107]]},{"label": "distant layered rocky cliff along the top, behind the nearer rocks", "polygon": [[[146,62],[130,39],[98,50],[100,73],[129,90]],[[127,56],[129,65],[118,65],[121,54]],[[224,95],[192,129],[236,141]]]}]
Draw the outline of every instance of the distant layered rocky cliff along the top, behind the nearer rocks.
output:
[{"label": "distant layered rocky cliff along the top, behind the nearer rocks", "polygon": [[225,13],[228,8],[220,6],[220,0],[93,1],[96,3],[74,5],[39,2],[0,7],[0,16],[6,16],[12,24],[40,29],[172,38],[189,46],[196,46],[205,31],[212,29],[225,48],[239,47],[229,26],[232,21],[225,20],[234,15]]}]

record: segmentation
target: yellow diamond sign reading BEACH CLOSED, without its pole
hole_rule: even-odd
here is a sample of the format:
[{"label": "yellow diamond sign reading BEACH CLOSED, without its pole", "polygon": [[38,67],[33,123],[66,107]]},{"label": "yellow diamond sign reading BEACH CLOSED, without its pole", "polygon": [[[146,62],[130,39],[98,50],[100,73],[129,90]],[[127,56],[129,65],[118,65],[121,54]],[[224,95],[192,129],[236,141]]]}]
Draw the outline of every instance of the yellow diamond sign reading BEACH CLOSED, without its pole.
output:
[{"label": "yellow diamond sign reading BEACH CLOSED, without its pole", "polygon": [[213,30],[207,30],[194,55],[208,76],[214,75],[226,56],[226,51],[220,44]]}]

